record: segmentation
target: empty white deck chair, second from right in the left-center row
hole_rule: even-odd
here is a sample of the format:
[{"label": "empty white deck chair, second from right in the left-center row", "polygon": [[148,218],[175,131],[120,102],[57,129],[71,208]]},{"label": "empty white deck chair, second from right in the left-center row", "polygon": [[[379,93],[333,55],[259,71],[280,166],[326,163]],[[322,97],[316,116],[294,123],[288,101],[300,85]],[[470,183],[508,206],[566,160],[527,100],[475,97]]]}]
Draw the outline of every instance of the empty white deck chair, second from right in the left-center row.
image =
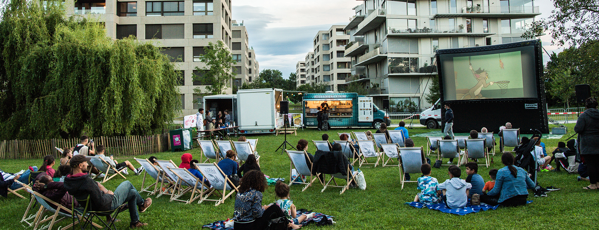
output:
[{"label": "empty white deck chair, second from right in the left-center row", "polygon": [[[205,179],[204,181],[201,181],[186,168],[168,168],[168,170],[173,172],[179,178],[176,183],[179,188],[175,189],[177,192],[171,194],[171,201],[181,201],[185,204],[190,204],[193,201],[198,200],[198,198],[201,198],[205,191],[210,190],[210,188],[204,185]],[[187,186],[187,188],[183,189],[183,186]],[[188,200],[179,199],[188,192],[191,192],[191,196]]]}]

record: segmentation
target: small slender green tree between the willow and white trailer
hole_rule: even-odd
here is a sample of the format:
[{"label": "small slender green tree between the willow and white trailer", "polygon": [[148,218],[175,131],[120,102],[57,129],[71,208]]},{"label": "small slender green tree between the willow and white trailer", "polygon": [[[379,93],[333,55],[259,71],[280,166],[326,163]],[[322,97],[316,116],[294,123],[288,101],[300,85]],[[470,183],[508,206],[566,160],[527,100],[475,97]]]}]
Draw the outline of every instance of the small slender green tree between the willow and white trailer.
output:
[{"label": "small slender green tree between the willow and white trailer", "polygon": [[202,73],[201,76],[193,74],[194,81],[209,82],[206,85],[206,92],[202,92],[202,89],[197,87],[193,91],[198,94],[225,94],[225,90],[229,88],[231,80],[235,77],[232,72],[232,65],[236,63],[233,60],[231,52],[225,48],[225,44],[222,41],[218,41],[216,44],[208,43],[210,48],[206,48],[206,54],[199,56],[199,61],[203,62],[206,66],[196,70]]}]

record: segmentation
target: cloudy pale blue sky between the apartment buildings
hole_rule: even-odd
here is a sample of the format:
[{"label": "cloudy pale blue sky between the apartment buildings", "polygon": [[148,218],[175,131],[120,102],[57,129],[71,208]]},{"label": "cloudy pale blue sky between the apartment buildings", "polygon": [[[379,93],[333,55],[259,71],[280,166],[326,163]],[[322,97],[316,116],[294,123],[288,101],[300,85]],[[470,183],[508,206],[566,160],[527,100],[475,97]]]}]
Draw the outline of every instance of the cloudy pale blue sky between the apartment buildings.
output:
[{"label": "cloudy pale blue sky between the apartment buildings", "polygon": [[[312,38],[318,30],[328,30],[334,24],[347,24],[354,15],[356,0],[232,0],[232,16],[243,21],[249,34],[249,45],[256,51],[260,69],[278,69],[287,78],[295,72],[295,64],[313,50]],[[553,8],[550,0],[536,0],[541,16],[547,17]],[[551,53],[549,35],[541,37],[543,47]],[[560,49],[561,50],[561,49]],[[549,56],[544,54],[544,62]]]}]

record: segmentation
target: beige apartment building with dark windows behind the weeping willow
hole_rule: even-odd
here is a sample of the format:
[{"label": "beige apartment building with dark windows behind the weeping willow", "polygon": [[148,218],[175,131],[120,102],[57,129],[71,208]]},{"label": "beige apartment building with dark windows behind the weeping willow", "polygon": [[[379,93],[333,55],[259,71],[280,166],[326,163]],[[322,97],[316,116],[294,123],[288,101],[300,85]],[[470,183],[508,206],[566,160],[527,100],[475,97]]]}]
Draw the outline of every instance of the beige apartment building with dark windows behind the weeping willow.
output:
[{"label": "beige apartment building with dark windows behind the weeping willow", "polygon": [[[152,41],[164,47],[162,53],[167,54],[171,62],[176,63],[181,71],[179,81],[181,115],[195,114],[201,106],[199,104],[201,97],[193,93],[193,88],[199,87],[202,92],[205,92],[205,87],[210,84],[210,82],[194,81],[192,78],[193,73],[201,75],[195,68],[205,66],[204,63],[199,62],[199,56],[205,54],[208,43],[222,41],[229,50],[237,47],[232,46],[231,0],[76,2],[67,0],[65,8],[67,16],[80,14],[104,22],[107,35],[113,39],[133,35],[142,42]],[[243,33],[247,44],[247,32]],[[247,45],[242,47],[248,50]],[[248,51],[246,57],[249,53]],[[252,59],[246,58],[244,63],[252,60],[253,65],[254,58],[255,54],[252,51]],[[248,64],[244,67],[250,69],[249,66]],[[254,66],[258,66],[257,63]],[[246,70],[241,71],[242,74],[237,75],[237,79],[249,79],[249,76],[243,75],[249,72]],[[226,93],[232,93],[234,81],[229,82]]]}]

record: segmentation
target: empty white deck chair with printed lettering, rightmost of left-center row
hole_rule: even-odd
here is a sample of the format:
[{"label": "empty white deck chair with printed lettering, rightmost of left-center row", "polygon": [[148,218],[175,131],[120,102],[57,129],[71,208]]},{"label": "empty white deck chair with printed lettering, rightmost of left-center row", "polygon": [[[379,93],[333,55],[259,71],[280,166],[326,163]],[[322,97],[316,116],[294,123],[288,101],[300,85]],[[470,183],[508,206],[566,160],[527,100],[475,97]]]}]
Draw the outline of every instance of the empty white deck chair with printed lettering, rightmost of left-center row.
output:
[{"label": "empty white deck chair with printed lettering, rightmost of left-center row", "polygon": [[[233,183],[228,177],[224,176],[225,173],[220,170],[219,165],[217,165],[216,162],[212,164],[196,164],[196,167],[198,167],[202,176],[204,176],[204,178],[210,182],[212,188],[214,188],[212,191],[207,192],[204,197],[200,198],[198,204],[204,201],[216,201],[214,206],[219,206],[219,204],[225,203],[226,198],[231,197],[231,194],[239,192],[239,186],[232,186]],[[220,197],[219,200],[208,199],[214,192],[221,194],[222,197]]]}]

